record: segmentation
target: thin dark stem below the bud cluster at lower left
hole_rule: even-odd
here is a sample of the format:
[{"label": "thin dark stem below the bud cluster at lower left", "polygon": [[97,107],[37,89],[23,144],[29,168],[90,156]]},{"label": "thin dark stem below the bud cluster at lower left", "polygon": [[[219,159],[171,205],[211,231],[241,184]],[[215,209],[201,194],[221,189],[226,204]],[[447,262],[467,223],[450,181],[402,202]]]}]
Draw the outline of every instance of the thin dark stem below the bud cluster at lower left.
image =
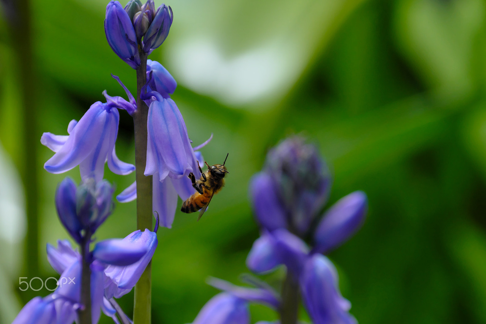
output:
[{"label": "thin dark stem below the bud cluster at lower left", "polygon": [[79,311],[79,324],[91,324],[91,257],[89,255],[90,233],[81,243],[81,304],[83,309]]}]

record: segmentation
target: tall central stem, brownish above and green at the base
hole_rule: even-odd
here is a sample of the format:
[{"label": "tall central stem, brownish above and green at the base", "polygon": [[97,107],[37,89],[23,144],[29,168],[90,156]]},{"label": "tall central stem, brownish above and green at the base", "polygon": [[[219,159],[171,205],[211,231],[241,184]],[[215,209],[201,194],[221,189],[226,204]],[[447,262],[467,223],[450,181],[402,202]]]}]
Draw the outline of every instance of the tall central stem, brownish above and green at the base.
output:
[{"label": "tall central stem, brownish above and green at the base", "polygon": [[[149,108],[140,99],[142,87],[147,82],[147,55],[139,51],[141,64],[137,68],[137,111],[133,114],[135,128],[135,178],[137,180],[137,229],[152,230],[152,176],[145,177],[147,160],[147,116]],[[151,323],[152,261],[135,285],[133,321]]]}]

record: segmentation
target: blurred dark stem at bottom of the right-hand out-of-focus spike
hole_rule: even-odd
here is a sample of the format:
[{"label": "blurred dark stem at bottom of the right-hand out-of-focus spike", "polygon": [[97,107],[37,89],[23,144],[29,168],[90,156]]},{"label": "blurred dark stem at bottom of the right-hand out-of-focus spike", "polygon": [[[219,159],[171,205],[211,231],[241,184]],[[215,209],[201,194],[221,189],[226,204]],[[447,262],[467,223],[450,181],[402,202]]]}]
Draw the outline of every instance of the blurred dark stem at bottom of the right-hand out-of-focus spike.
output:
[{"label": "blurred dark stem at bottom of the right-hand out-of-focus spike", "polygon": [[294,275],[287,271],[282,284],[280,324],[296,324],[299,312],[299,285]]}]

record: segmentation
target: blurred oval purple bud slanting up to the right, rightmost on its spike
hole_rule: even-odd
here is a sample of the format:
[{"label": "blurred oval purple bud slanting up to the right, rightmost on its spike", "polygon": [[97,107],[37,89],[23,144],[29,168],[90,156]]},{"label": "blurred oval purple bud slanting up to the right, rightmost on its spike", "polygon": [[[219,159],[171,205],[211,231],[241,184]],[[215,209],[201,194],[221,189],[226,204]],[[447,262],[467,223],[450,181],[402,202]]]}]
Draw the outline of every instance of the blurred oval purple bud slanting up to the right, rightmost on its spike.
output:
[{"label": "blurred oval purple bud slanting up to the right, rightmost on its spike", "polygon": [[363,224],[366,207],[367,198],[363,191],[355,191],[339,199],[317,226],[314,251],[326,254],[356,233]]}]

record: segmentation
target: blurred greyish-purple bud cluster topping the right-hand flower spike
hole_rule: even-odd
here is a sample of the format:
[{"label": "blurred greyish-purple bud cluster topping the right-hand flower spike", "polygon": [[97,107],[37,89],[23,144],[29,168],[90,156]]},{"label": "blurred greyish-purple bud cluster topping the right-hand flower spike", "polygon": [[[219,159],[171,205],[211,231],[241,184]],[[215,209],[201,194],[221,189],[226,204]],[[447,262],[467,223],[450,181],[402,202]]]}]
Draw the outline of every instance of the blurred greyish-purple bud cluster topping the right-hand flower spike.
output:
[{"label": "blurred greyish-purple bud cluster topping the right-hand flower spike", "polygon": [[[301,137],[287,138],[268,152],[263,172],[271,178],[274,188],[272,193],[267,194],[270,196],[267,199],[272,202],[272,206],[279,204],[280,209],[285,211],[287,228],[299,235],[306,234],[312,220],[326,202],[330,189],[329,171],[316,147],[306,144]],[[257,194],[263,190],[258,191],[259,185],[262,184],[252,184]],[[272,188],[268,183],[265,186],[268,190]],[[257,216],[260,214],[259,220],[263,220],[263,226],[281,226],[281,220],[267,219],[280,219],[280,212],[271,215],[263,209],[262,204],[255,204],[255,209]]]}]

